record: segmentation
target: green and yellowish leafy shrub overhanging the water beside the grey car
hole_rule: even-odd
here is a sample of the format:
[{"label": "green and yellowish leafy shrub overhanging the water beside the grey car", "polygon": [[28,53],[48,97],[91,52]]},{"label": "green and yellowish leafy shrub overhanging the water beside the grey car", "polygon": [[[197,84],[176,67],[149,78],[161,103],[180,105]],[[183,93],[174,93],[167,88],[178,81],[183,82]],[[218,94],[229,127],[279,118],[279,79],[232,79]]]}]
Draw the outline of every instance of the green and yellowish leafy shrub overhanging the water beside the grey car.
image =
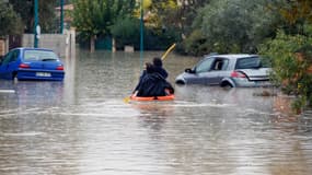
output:
[{"label": "green and yellowish leafy shrub overhanging the water beside the grey car", "polygon": [[278,31],[276,38],[261,46],[259,52],[273,66],[273,79],[281,91],[296,95],[293,108],[312,105],[312,38],[303,35],[286,35]]}]

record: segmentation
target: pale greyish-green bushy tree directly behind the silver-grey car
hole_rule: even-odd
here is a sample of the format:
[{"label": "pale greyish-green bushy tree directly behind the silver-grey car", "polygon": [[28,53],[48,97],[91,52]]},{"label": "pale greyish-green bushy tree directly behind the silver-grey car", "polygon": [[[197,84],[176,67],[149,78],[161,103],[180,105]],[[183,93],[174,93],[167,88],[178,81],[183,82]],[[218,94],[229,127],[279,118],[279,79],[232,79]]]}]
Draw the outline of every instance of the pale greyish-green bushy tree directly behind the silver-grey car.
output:
[{"label": "pale greyish-green bushy tree directly behind the silver-grey car", "polygon": [[276,15],[266,0],[212,0],[194,22],[217,52],[256,52],[264,38],[274,35]]}]

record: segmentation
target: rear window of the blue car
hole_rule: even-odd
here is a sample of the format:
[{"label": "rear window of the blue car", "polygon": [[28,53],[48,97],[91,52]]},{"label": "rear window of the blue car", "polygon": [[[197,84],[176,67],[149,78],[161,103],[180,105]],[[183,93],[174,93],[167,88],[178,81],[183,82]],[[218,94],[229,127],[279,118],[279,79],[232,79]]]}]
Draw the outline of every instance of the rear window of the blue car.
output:
[{"label": "rear window of the blue car", "polygon": [[55,52],[49,50],[25,50],[24,60],[54,61],[58,60],[58,57]]}]

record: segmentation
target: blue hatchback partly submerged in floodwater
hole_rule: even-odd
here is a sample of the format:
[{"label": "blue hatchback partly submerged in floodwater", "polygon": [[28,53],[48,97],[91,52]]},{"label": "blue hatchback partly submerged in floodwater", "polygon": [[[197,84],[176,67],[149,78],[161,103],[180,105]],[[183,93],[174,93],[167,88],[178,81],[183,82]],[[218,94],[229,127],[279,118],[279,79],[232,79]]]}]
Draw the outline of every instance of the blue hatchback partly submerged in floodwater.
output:
[{"label": "blue hatchback partly submerged in floodwater", "polygon": [[63,65],[46,48],[14,48],[0,60],[0,78],[13,80],[62,81]]}]

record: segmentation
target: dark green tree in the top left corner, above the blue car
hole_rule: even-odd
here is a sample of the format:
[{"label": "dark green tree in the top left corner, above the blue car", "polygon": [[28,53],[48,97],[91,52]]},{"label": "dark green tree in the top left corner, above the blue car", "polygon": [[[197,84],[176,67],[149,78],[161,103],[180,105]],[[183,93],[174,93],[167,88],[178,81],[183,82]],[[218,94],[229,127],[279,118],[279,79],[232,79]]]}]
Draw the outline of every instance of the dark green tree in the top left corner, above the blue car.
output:
[{"label": "dark green tree in the top left corner, above the blue car", "polygon": [[11,4],[0,1],[0,37],[22,33],[22,22]]}]

